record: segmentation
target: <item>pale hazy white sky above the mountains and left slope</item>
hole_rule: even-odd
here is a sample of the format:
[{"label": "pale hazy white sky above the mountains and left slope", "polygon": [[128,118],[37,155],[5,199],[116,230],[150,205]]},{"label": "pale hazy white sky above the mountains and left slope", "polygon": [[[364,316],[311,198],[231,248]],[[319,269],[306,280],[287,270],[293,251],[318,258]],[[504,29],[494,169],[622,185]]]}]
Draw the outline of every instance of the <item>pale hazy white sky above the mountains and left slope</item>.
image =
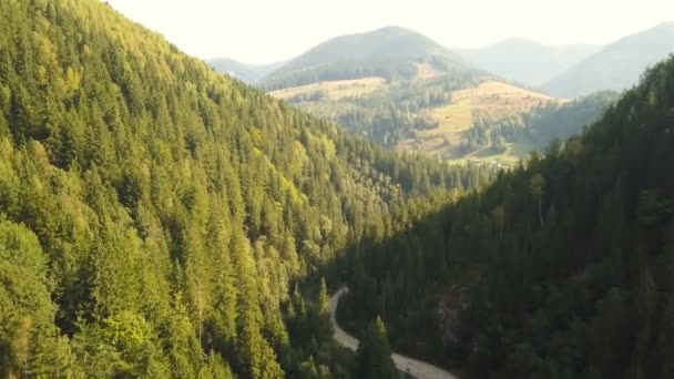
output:
[{"label": "pale hazy white sky above the mountains and left slope", "polygon": [[447,47],[508,37],[606,43],[674,19],[674,0],[109,0],[190,54],[248,63],[293,58],[331,37],[385,25]]}]

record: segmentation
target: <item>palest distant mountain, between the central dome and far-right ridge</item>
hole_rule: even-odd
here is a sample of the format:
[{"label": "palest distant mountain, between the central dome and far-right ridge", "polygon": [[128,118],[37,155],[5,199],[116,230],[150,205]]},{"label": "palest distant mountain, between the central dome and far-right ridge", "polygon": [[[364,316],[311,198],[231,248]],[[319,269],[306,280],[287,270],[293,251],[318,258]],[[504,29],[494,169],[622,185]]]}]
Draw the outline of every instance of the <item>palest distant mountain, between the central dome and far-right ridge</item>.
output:
[{"label": "palest distant mountain, between the central dome and far-right ridge", "polygon": [[484,71],[531,88],[543,85],[600,48],[595,45],[547,45],[513,38],[480,49],[455,50]]}]

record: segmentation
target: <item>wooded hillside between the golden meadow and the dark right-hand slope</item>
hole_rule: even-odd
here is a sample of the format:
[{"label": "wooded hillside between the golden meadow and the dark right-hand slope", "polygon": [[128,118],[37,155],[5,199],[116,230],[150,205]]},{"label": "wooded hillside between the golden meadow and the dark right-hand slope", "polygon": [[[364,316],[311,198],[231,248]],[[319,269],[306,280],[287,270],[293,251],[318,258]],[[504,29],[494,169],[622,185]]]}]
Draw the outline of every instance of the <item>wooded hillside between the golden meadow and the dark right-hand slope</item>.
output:
[{"label": "wooded hillside between the golden meadow and the dark right-hand slope", "polygon": [[473,126],[468,133],[467,152],[492,146],[506,148],[507,143],[527,141],[533,147],[543,148],[551,141],[566,140],[582,132],[601,117],[609,105],[617,100],[615,92],[599,92],[575,99],[569,103],[547,102],[525,113],[490,115],[473,112]]}]

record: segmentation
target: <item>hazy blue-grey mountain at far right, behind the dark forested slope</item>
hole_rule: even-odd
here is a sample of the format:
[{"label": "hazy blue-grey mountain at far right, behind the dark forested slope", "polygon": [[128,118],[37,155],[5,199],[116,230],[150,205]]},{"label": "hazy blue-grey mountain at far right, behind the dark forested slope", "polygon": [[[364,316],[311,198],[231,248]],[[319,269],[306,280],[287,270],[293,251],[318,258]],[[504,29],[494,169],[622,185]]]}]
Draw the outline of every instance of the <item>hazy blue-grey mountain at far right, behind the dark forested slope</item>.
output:
[{"label": "hazy blue-grey mountain at far right, behind the dark forested slope", "polygon": [[674,53],[674,22],[627,35],[588,57],[542,86],[558,96],[574,98],[601,90],[622,91],[641,73]]}]

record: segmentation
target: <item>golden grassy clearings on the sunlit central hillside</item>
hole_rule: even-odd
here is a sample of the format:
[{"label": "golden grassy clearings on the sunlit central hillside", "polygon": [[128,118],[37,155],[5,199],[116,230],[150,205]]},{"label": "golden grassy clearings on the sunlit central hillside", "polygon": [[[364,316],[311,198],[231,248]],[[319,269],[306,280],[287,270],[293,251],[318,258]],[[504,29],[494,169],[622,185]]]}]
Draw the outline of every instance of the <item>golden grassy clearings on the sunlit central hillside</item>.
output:
[{"label": "golden grassy clearings on the sunlit central hillside", "polygon": [[[417,65],[418,74],[409,85],[429,82],[441,73],[429,64]],[[384,78],[369,76],[354,80],[323,81],[318,83],[272,91],[269,94],[329,119],[354,110],[354,99],[375,99],[395,95],[394,86]],[[417,130],[412,135],[402,139],[395,146],[398,151],[421,152],[451,162],[493,161],[500,164],[513,164],[527,156],[531,150],[527,141],[511,142],[507,150],[494,151],[492,147],[467,152],[464,144],[473,126],[473,117],[479,112],[493,120],[502,120],[531,111],[548,103],[566,103],[565,99],[552,98],[527,89],[518,88],[497,80],[487,80],[478,85],[451,92],[449,101],[420,112],[431,124],[437,126]]]}]

